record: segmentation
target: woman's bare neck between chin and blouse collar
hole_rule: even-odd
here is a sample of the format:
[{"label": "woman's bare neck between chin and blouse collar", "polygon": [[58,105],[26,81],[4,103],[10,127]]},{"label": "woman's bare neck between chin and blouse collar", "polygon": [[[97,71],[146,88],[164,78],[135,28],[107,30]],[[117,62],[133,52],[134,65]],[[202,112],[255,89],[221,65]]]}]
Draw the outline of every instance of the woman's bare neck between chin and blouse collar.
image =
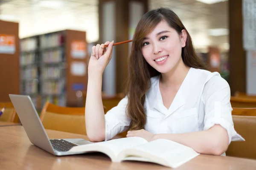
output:
[{"label": "woman's bare neck between chin and blouse collar", "polygon": [[174,87],[180,86],[189,72],[190,67],[186,66],[182,59],[175,65],[172,70],[161,74],[160,82],[163,86]]}]

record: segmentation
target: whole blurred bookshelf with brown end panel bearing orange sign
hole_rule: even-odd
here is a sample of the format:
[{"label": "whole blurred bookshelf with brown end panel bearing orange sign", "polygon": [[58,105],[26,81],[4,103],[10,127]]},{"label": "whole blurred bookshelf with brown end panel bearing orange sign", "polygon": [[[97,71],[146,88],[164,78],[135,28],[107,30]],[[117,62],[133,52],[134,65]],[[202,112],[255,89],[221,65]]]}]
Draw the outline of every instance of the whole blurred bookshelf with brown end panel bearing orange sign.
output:
[{"label": "whole blurred bookshelf with brown end panel bearing orange sign", "polygon": [[77,106],[76,92],[87,88],[85,36],[84,31],[64,30],[20,40],[21,92],[31,96],[38,110],[47,101]]}]

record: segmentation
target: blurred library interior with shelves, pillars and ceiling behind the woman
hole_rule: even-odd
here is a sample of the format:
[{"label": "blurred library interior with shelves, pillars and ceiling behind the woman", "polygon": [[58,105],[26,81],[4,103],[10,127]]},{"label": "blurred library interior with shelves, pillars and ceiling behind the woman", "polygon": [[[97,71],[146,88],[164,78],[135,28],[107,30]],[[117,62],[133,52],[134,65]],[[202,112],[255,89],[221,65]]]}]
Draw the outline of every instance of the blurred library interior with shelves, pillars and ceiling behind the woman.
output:
[{"label": "blurred library interior with shelves, pillars and ceiling behind the woman", "polygon": [[[160,6],[176,12],[207,69],[218,71],[229,82],[232,94],[256,94],[256,68],[246,64],[256,63],[256,40],[250,40],[250,46],[245,43],[255,36],[247,36],[253,28],[246,26],[255,23],[255,16],[242,22],[246,10],[252,10],[242,9],[244,2],[0,0],[0,102],[10,102],[8,94],[24,94],[32,98],[38,112],[47,101],[83,107],[91,47],[105,41],[131,40],[143,14]],[[130,45],[113,48],[113,58],[103,75],[102,99],[116,99],[113,106],[123,97]]]}]

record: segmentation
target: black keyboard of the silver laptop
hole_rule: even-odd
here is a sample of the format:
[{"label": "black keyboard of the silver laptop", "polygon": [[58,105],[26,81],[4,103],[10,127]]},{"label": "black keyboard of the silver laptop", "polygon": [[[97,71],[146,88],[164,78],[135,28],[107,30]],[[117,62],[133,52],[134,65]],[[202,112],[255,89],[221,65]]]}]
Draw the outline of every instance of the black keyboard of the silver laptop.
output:
[{"label": "black keyboard of the silver laptop", "polygon": [[52,143],[52,147],[55,150],[65,152],[70,150],[72,147],[77,146],[76,144],[73,144],[71,142],[67,142],[63,139],[50,139],[50,142]]}]

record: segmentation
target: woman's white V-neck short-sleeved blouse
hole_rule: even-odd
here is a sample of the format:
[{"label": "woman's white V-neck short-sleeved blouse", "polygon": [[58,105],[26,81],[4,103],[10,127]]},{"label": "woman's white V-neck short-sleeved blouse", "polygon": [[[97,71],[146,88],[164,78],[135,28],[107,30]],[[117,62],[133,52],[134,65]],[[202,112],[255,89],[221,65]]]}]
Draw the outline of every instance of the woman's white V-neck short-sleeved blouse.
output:
[{"label": "woman's white V-neck short-sleeved blouse", "polygon": [[[190,68],[169,109],[163,105],[159,79],[160,76],[151,78],[151,87],[146,93],[145,130],[153,134],[188,133],[218,124],[227,130],[229,143],[244,140],[234,129],[230,86],[218,72]],[[123,98],[105,114],[105,140],[128,129],[127,102],[127,97]]]}]

